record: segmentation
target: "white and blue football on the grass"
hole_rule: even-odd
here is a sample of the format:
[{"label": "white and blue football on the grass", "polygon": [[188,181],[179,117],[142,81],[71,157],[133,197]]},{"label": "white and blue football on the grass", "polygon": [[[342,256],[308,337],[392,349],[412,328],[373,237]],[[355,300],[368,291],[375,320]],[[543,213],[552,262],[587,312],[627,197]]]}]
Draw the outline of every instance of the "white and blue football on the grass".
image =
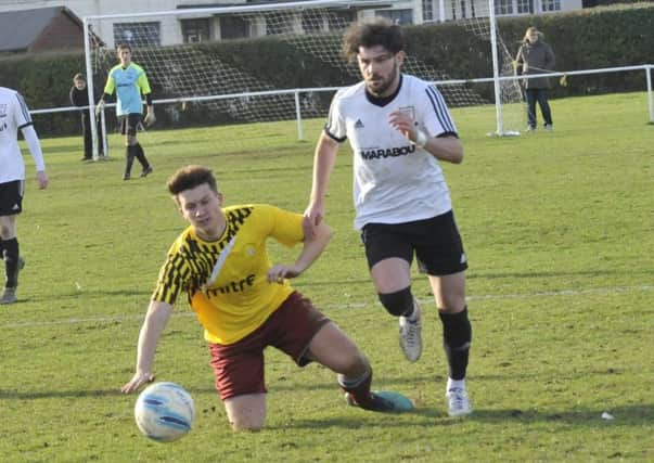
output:
[{"label": "white and blue football on the grass", "polygon": [[139,395],[134,406],[137,426],[150,439],[170,442],[193,426],[195,407],[187,390],[175,383],[154,383]]}]

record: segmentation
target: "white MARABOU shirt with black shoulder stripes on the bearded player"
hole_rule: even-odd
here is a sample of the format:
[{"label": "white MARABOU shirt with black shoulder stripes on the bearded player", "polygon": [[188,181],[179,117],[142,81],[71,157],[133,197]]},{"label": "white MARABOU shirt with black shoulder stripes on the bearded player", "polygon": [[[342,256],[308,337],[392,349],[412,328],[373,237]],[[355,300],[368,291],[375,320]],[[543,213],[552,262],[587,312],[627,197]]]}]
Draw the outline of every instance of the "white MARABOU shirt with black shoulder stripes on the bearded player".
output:
[{"label": "white MARABOU shirt with black shoulder stripes on the bearded player", "polygon": [[388,124],[395,111],[410,114],[429,137],[457,136],[440,92],[414,76],[402,74],[397,93],[383,101],[362,81],[339,90],[324,130],[338,142],[349,139],[352,149],[357,229],[428,219],[452,207],[438,160]]}]

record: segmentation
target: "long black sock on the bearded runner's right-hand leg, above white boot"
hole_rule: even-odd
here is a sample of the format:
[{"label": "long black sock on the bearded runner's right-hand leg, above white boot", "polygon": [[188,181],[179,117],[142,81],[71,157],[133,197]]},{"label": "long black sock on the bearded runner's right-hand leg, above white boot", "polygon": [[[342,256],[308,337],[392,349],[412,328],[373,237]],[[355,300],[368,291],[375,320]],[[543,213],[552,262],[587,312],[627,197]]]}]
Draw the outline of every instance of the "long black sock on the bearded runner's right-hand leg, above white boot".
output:
[{"label": "long black sock on the bearded runner's right-hand leg, above white boot", "polygon": [[443,322],[443,346],[452,380],[463,380],[467,369],[472,325],[467,318],[467,307],[459,313],[438,312]]}]

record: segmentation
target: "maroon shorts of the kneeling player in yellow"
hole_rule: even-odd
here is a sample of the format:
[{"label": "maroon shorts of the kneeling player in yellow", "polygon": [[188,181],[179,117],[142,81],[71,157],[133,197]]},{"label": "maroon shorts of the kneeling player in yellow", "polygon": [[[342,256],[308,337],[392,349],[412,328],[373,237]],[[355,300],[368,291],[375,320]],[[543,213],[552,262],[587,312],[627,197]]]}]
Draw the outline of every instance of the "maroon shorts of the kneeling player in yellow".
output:
[{"label": "maroon shorts of the kneeling player in yellow", "polygon": [[265,394],[264,349],[273,346],[299,366],[311,361],[309,343],[330,322],[311,301],[294,292],[253,333],[234,344],[209,344],[216,389],[220,399],[244,394]]}]

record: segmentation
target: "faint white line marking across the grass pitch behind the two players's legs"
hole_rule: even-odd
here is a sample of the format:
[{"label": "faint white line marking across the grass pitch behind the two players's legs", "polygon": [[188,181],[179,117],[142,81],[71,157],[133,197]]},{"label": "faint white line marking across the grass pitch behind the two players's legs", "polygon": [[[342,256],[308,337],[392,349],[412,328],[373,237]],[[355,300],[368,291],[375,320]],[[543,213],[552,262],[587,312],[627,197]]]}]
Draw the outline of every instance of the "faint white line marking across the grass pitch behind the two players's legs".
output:
[{"label": "faint white line marking across the grass pitch behind the two players's legs", "polygon": [[[641,286],[614,286],[614,287],[593,287],[590,290],[562,290],[562,291],[544,291],[538,293],[525,293],[525,294],[485,294],[485,295],[470,295],[466,297],[467,300],[501,300],[501,299],[530,299],[534,297],[560,297],[560,296],[584,296],[588,294],[621,294],[621,293],[642,293],[653,291],[653,285],[641,285]],[[421,303],[428,304],[432,299],[422,299]],[[377,303],[375,303],[377,304]],[[352,304],[328,304],[324,306],[318,305],[319,308],[323,309],[361,309],[369,307],[370,304],[366,303],[352,303]],[[192,311],[177,311],[172,313],[172,317],[195,317]],[[50,320],[50,321],[29,321],[21,323],[7,323],[0,325],[0,330],[13,329],[13,327],[29,327],[29,326],[53,326],[53,325],[67,325],[78,323],[113,323],[113,322],[125,322],[132,320],[143,320],[144,313],[134,316],[115,316],[115,317],[95,317],[95,318],[69,318],[64,320]]]}]

